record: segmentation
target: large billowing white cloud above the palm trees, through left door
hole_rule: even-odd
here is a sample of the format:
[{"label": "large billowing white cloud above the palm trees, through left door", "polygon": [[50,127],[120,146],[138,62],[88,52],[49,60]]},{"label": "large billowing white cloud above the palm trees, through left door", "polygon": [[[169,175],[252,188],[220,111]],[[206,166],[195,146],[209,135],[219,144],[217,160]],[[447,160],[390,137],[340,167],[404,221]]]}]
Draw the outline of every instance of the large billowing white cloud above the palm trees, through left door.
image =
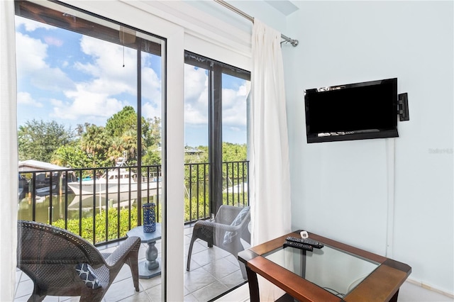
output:
[{"label": "large billowing white cloud above the palm trees, through left door", "polygon": [[[65,91],[65,95],[72,100],[68,104],[67,114],[71,117],[94,116],[110,117],[128,105],[126,99],[133,99],[137,89],[136,51],[83,36],[81,39],[82,52],[92,57],[92,62],[76,62],[74,67],[84,72],[93,80],[77,84],[77,89]],[[124,67],[123,67],[124,60]],[[142,97],[143,116],[153,118],[161,114],[161,80],[150,67],[142,69]],[[131,105],[131,104],[130,104]],[[63,108],[55,108],[55,114],[61,114]]]}]

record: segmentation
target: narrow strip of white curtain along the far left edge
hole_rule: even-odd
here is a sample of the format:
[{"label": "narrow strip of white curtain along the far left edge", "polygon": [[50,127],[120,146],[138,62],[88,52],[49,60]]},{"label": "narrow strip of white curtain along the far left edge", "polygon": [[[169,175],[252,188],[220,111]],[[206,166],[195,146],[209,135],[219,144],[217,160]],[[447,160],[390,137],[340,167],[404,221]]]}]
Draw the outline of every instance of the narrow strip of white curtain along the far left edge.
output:
[{"label": "narrow strip of white curtain along the far left edge", "polygon": [[13,301],[16,279],[18,154],[14,1],[0,1],[0,301]]}]

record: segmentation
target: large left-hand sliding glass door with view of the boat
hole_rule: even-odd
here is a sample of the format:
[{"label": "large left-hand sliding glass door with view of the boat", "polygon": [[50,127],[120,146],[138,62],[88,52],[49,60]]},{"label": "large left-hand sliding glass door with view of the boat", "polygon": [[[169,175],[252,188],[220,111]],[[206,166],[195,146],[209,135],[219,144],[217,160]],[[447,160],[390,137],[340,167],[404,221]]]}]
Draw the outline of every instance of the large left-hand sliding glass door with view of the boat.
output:
[{"label": "large left-hand sliding glass door with view of the boat", "polygon": [[[16,50],[18,218],[104,250],[155,203],[165,233],[165,40],[57,2],[16,1]],[[159,269],[140,279],[150,301],[162,298],[161,246],[157,238]],[[105,299],[136,294],[123,278]]]}]

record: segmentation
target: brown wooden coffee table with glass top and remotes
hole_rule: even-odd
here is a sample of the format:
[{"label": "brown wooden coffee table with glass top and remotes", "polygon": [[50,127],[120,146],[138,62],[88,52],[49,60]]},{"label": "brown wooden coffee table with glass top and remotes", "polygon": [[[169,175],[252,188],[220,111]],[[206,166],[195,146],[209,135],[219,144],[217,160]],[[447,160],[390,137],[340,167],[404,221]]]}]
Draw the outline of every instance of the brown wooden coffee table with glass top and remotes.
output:
[{"label": "brown wooden coffee table with glass top and remotes", "polygon": [[[246,266],[250,301],[260,301],[257,275],[297,301],[397,301],[411,267],[387,257],[309,233],[324,247],[313,251],[283,247],[299,230],[238,254]],[[279,301],[286,301],[284,296]]]}]

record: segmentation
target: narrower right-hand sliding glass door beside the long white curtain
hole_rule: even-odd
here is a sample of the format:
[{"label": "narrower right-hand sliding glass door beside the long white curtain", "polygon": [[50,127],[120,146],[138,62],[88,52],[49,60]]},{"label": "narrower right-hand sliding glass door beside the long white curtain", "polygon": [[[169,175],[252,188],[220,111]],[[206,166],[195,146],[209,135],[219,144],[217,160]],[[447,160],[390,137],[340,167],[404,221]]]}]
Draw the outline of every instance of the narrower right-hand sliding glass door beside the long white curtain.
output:
[{"label": "narrower right-hand sliding glass door beside the long white curtain", "polygon": [[250,74],[191,52],[185,62],[184,300],[210,301],[247,279]]}]

